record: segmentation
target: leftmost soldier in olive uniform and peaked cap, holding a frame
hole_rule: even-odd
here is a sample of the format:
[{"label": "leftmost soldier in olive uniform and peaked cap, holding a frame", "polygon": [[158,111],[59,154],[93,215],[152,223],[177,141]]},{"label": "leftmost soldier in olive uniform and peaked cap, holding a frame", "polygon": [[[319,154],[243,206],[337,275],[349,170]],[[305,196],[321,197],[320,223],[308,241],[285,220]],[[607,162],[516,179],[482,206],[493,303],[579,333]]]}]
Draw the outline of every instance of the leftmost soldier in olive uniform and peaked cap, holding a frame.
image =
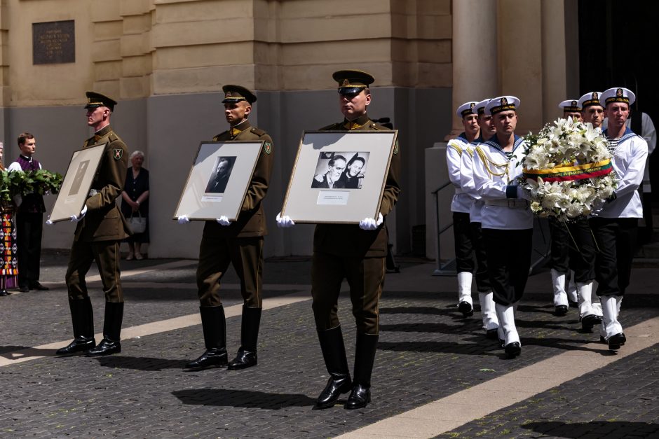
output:
[{"label": "leftmost soldier in olive uniform and peaked cap, holding a frame", "polygon": [[[130,228],[116,205],[128,171],[128,150],[110,126],[116,102],[107,96],[87,92],[87,125],[95,134],[83,148],[105,144],[105,151],[92,182],[91,190],[79,216],[66,274],[74,340],[57,350],[57,355],[84,351],[88,356],[121,352],[120,333],[123,320],[123,289],[119,278],[119,243],[128,237]],[[85,275],[96,261],[105,293],[103,340],[94,340],[94,317],[87,293]]]}]

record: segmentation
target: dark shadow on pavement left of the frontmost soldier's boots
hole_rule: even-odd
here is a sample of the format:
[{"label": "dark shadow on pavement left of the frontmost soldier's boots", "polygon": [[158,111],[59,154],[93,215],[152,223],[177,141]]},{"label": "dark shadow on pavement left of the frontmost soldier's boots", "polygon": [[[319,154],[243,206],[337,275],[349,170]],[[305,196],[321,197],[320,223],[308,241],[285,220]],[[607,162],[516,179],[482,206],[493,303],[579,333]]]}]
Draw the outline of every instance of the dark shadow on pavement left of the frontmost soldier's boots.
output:
[{"label": "dark shadow on pavement left of the frontmost soldier's boots", "polygon": [[247,407],[280,410],[285,407],[311,407],[315,398],[292,393],[265,393],[231,389],[186,389],[173,391],[184,404]]}]

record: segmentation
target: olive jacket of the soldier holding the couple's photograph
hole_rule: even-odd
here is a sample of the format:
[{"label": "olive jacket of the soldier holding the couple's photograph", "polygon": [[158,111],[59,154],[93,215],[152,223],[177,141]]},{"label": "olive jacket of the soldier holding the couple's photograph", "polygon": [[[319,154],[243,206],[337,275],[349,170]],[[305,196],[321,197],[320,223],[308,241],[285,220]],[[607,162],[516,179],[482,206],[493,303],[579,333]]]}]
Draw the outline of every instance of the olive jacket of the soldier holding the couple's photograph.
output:
[{"label": "olive jacket of the soldier holding the couple's photograph", "polygon": [[[357,120],[334,123],[321,131],[379,131],[388,130],[364,115]],[[380,213],[386,218],[398,201],[400,193],[400,151],[396,142],[380,204]],[[377,218],[375,218],[377,219]],[[362,230],[357,224],[318,224],[313,233],[313,251],[346,257],[384,257],[387,255],[388,233],[386,224],[376,230]]]}]

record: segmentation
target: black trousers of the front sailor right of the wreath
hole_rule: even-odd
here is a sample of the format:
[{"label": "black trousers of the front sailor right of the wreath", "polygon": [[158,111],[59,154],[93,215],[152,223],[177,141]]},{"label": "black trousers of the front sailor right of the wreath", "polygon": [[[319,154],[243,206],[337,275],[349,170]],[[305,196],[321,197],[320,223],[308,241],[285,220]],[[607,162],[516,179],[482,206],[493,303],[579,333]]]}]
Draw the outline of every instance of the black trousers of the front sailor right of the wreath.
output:
[{"label": "black trousers of the front sailor right of the wreath", "polygon": [[624,295],[630,284],[638,218],[590,218],[599,253],[595,258],[597,295]]}]

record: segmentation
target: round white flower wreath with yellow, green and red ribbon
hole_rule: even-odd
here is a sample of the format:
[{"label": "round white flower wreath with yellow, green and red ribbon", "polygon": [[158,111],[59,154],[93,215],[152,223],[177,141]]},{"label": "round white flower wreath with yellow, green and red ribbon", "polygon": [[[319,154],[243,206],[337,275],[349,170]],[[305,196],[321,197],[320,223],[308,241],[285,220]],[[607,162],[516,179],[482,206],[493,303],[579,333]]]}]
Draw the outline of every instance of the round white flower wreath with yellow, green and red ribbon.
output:
[{"label": "round white flower wreath with yellow, green and red ribbon", "polygon": [[559,221],[588,216],[614,195],[613,155],[604,134],[590,123],[558,119],[525,139],[520,183],[536,216]]}]

